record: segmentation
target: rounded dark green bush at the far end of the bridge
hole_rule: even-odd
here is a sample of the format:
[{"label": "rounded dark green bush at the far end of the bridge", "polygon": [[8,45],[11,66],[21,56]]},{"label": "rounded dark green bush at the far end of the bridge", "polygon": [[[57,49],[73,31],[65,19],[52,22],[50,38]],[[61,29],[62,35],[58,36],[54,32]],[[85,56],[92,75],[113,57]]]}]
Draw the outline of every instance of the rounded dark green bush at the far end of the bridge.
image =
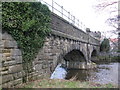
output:
[{"label": "rounded dark green bush at the far end of the bridge", "polygon": [[109,39],[104,39],[100,45],[101,52],[108,52],[110,50],[110,42]]}]

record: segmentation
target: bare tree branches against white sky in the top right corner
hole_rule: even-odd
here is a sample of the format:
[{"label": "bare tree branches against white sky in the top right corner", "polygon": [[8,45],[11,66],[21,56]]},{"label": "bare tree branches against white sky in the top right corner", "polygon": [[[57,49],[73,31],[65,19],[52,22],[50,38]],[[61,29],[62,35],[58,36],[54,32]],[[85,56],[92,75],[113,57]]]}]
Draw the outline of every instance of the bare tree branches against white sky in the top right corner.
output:
[{"label": "bare tree branches against white sky in the top right corner", "polygon": [[[107,10],[110,13],[111,17],[108,17],[106,22],[114,27],[117,32],[120,26],[120,10],[118,9],[118,3],[120,3],[118,0],[99,0],[99,4],[96,5],[99,11]],[[115,31],[113,33],[116,33]]]}]

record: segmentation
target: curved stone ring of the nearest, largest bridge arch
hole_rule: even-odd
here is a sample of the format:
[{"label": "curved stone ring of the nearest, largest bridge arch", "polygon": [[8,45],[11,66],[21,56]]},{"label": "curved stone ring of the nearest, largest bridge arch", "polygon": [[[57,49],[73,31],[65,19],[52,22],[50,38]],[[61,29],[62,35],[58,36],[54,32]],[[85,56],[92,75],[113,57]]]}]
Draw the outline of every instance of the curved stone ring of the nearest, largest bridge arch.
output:
[{"label": "curved stone ring of the nearest, largest bridge arch", "polygon": [[[70,42],[70,41],[68,41],[68,42]],[[53,71],[57,67],[58,64],[65,65],[66,64],[65,55],[67,55],[68,53],[71,53],[73,51],[77,51],[77,53],[79,53],[79,55],[81,55],[81,57],[83,57],[82,61],[87,62],[85,48],[82,47],[81,45],[79,45],[78,43],[67,44],[64,48],[61,48],[61,49],[62,49],[62,51],[60,53],[58,53],[58,55],[56,56],[56,62],[54,64]]]}]

